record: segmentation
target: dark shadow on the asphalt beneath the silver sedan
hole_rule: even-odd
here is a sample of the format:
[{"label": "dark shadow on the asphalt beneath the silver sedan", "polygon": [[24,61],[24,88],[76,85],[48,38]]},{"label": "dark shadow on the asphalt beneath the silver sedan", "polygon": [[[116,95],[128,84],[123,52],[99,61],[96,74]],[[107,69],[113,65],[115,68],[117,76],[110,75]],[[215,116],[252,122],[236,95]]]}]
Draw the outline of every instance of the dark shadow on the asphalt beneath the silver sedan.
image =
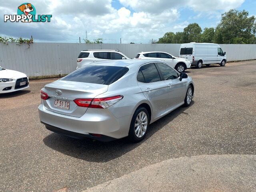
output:
[{"label": "dark shadow on the asphalt beneath the silver sedan", "polygon": [[[190,106],[193,104],[194,101],[191,102]],[[98,142],[91,139],[77,140],[56,133],[46,136],[43,141],[46,146],[53,150],[74,158],[86,160],[88,162],[108,162],[126,154],[145,142],[178,115],[184,113],[184,110],[186,109],[186,107],[182,106],[160,120],[152,123],[146,138],[139,143],[131,143],[127,138],[114,140],[112,142]]]}]

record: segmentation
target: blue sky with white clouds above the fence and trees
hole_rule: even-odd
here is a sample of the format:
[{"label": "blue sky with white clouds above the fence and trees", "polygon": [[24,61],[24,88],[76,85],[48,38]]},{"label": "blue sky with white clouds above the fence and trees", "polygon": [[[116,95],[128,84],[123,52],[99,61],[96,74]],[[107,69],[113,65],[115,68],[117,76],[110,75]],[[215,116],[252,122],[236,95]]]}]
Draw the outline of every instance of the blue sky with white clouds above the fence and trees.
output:
[{"label": "blue sky with white clouds above the fence and trees", "polygon": [[0,5],[0,35],[37,42],[79,42],[103,38],[105,43],[149,43],[165,32],[183,31],[189,23],[202,29],[216,27],[221,14],[236,8],[256,16],[255,0],[32,0],[37,14],[52,14],[50,23],[3,22],[4,14],[16,14],[21,4],[9,0]]}]

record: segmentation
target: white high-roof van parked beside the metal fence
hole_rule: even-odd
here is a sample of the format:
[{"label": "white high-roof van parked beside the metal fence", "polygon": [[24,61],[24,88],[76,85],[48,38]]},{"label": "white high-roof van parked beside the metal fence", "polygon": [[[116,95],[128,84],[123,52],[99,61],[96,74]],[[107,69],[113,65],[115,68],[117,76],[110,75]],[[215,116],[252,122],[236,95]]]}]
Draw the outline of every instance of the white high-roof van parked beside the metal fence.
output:
[{"label": "white high-roof van parked beside the metal fence", "polygon": [[201,68],[203,64],[220,64],[225,66],[227,57],[218,44],[215,43],[184,43],[180,45],[180,58],[188,59],[191,66]]}]

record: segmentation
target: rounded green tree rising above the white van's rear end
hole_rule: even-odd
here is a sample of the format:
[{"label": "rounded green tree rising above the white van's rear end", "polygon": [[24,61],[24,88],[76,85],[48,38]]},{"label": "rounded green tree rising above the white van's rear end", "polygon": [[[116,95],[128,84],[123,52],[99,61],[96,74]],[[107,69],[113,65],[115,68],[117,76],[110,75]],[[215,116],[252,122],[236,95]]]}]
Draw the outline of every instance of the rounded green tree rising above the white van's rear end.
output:
[{"label": "rounded green tree rising above the white van's rear end", "polygon": [[197,23],[191,23],[184,28],[183,42],[200,42],[202,29]]}]

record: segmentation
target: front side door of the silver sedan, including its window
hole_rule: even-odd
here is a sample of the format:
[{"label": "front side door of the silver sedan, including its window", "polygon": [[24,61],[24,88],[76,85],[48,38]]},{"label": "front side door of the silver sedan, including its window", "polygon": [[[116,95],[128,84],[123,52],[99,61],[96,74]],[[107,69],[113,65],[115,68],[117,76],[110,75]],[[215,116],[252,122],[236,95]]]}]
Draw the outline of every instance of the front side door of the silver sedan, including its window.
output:
[{"label": "front side door of the silver sedan, including its window", "polygon": [[156,63],[164,82],[168,86],[167,110],[182,103],[186,96],[186,80],[180,81],[179,74],[170,66]]}]

